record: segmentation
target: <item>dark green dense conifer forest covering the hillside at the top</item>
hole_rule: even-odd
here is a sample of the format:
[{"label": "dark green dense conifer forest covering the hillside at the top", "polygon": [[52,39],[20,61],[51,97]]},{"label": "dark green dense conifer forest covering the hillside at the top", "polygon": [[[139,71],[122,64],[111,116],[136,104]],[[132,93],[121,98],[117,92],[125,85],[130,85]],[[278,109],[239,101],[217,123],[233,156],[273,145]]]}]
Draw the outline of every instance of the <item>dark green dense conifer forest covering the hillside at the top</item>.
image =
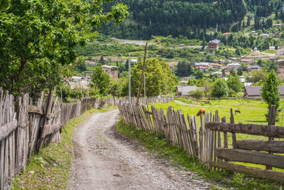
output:
[{"label": "dark green dense conifer forest covering the hillside at the top", "polygon": [[[100,31],[117,38],[149,39],[151,36],[193,38],[200,29],[216,27],[222,32],[236,31],[249,11],[254,17],[284,19],[283,0],[115,0],[104,4],[106,10],[117,1],[129,6],[130,19],[115,26],[107,23]],[[251,18],[249,18],[251,20]],[[232,26],[233,23],[235,26]]]}]

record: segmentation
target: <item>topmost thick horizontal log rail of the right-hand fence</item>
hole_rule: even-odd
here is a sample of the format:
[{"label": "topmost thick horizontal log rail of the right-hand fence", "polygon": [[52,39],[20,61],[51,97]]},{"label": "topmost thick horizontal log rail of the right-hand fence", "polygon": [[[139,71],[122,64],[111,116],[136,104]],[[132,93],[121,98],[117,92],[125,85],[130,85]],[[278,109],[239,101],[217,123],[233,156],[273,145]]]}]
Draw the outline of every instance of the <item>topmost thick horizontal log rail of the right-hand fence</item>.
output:
[{"label": "topmost thick horizontal log rail of the right-hand fence", "polygon": [[220,132],[235,132],[261,135],[265,137],[284,138],[284,127],[274,125],[208,122],[207,124],[205,124],[205,127],[207,129]]}]

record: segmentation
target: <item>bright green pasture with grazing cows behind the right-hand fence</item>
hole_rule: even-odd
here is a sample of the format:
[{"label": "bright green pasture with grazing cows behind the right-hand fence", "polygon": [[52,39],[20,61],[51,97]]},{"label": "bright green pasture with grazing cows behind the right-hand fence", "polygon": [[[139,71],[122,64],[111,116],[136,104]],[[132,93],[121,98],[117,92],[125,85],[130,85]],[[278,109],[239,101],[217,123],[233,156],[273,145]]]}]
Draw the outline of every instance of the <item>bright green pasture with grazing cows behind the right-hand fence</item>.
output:
[{"label": "bright green pasture with grazing cows behind the right-hand fence", "polygon": [[[180,99],[179,99],[180,100]],[[187,103],[196,103],[191,100],[183,100],[183,102]],[[283,104],[283,101],[281,102],[281,105]],[[167,109],[168,106],[173,106],[175,109],[182,110],[182,114],[189,114],[190,116],[196,115],[198,110],[204,107],[204,105],[209,106],[205,107],[209,112],[212,110],[214,113],[216,110],[219,112],[219,116],[223,117],[226,116],[226,122],[229,122],[230,117],[230,107],[233,107],[233,109],[240,109],[241,114],[234,115],[235,123],[256,123],[256,124],[263,124],[266,125],[267,121],[264,116],[264,114],[268,111],[268,108],[265,104],[265,102],[261,100],[210,100],[209,104],[202,104],[199,106],[191,106],[191,105],[180,105],[175,102],[169,102],[167,104],[155,104],[155,107],[163,108],[164,110]],[[250,106],[245,106],[250,105]],[[282,112],[280,113],[279,121],[276,122],[275,125],[281,125],[281,116]],[[284,122],[284,121],[283,121]],[[197,128],[199,130],[200,128],[200,119],[197,118]],[[221,135],[222,141],[223,141],[223,135]],[[261,136],[254,136],[250,134],[236,134],[237,139],[262,139],[266,140],[268,137],[261,137]],[[231,133],[228,133],[228,140],[229,140],[229,147],[232,147],[231,145]],[[250,163],[237,163],[237,164],[243,164],[249,167],[259,167],[261,169],[265,169],[265,166],[258,165],[258,164],[250,164]],[[275,168],[273,168],[275,169]],[[284,169],[275,169],[277,171],[284,171]]]}]

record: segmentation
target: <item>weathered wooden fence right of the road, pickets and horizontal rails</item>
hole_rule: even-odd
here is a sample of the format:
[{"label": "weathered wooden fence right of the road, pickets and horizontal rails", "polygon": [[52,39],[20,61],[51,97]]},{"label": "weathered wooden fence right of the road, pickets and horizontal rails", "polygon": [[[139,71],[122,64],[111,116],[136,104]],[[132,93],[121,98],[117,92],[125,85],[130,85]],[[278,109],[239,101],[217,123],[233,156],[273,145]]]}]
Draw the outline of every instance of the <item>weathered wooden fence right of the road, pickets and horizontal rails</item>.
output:
[{"label": "weathered wooden fence right of the road, pickets and horizontal rails", "polygon": [[[182,147],[190,156],[199,159],[207,169],[232,170],[284,182],[284,172],[271,170],[271,167],[284,169],[284,157],[271,154],[284,153],[283,141],[272,139],[272,137],[283,138],[284,127],[276,127],[271,123],[270,125],[234,124],[231,110],[230,123],[226,123],[226,117],[220,120],[218,111],[215,114],[207,112],[205,116],[201,115],[200,130],[197,131],[195,115],[186,117],[181,110],[174,110],[171,106],[168,107],[166,115],[163,109],[156,109],[154,105],[151,105],[150,109],[149,105],[136,106],[120,101],[118,106],[121,118],[126,124],[133,125],[139,130],[162,132],[169,144]],[[228,148],[228,132],[231,132],[233,149]],[[236,133],[261,135],[270,137],[270,140],[236,141]],[[223,143],[222,135],[224,135]],[[267,169],[230,162],[262,164],[267,166]]]}]

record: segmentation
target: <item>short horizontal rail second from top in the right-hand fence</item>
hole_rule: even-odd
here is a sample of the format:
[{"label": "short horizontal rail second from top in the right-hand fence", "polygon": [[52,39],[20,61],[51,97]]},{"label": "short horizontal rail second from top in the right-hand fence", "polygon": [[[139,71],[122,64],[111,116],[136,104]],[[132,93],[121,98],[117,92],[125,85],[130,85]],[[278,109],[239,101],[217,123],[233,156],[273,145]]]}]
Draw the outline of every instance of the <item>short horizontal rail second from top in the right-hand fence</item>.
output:
[{"label": "short horizontal rail second from top in the right-hand fence", "polygon": [[284,141],[244,139],[236,142],[239,149],[284,153]]}]

